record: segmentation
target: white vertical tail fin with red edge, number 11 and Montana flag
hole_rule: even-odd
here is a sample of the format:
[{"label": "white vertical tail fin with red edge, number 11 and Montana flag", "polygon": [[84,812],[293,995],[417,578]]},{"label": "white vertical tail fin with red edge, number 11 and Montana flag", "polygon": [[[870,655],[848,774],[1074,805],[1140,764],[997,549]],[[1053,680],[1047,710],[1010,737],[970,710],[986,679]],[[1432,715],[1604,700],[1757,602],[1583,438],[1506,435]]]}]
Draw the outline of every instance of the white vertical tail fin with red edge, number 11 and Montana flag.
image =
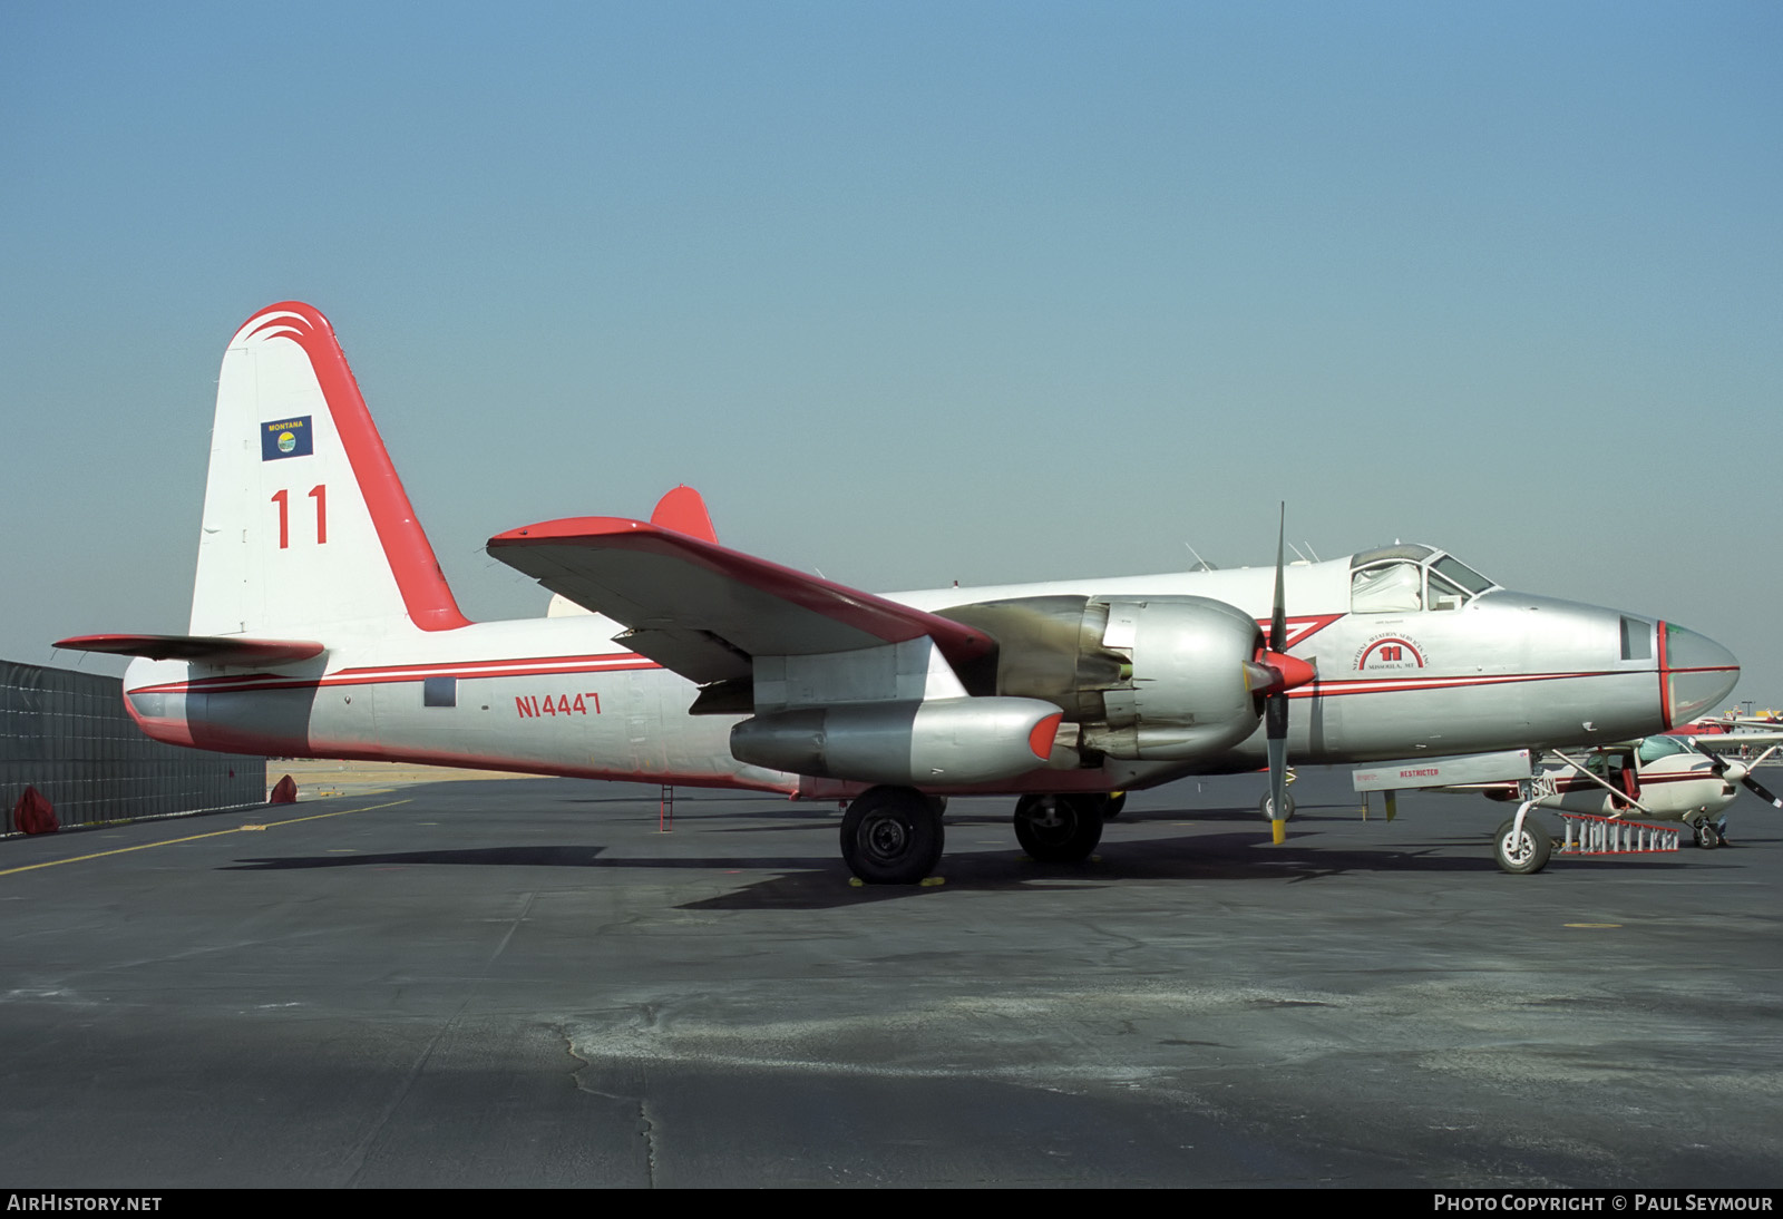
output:
[{"label": "white vertical tail fin with red edge, number 11 and Montana flag", "polygon": [[467,626],[333,326],[296,301],[223,353],[193,634]]}]

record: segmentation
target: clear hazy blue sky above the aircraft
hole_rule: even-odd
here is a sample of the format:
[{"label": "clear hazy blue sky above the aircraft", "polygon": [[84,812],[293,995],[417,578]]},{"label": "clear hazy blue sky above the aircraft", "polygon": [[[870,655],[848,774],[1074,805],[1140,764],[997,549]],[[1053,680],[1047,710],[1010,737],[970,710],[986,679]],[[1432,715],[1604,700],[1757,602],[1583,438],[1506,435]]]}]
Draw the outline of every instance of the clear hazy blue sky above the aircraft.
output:
[{"label": "clear hazy blue sky above the aircraft", "polygon": [[[510,11],[512,9],[512,11]],[[1783,704],[1783,7],[0,5],[0,656],[184,631],[218,362],[335,323],[481,554],[699,487],[865,588],[1419,538]]]}]

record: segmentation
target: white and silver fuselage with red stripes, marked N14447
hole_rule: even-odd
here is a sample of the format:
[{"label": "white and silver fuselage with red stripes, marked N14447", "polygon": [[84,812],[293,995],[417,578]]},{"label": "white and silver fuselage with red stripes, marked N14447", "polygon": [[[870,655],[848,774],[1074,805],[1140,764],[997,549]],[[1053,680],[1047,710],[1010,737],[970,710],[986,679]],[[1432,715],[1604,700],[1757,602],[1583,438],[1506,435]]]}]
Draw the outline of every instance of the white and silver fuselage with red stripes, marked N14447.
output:
[{"label": "white and silver fuselage with red stripes, marked N14447", "polygon": [[[1664,624],[1501,588],[1444,610],[1355,611],[1352,579],[1348,558],[1286,572],[1293,615],[1284,650],[1318,668],[1314,683],[1291,691],[1289,752],[1300,763],[1583,745],[1660,732],[1696,715],[1690,691],[1680,699],[1678,677],[1665,670]],[[1264,622],[1271,581],[1269,569],[1243,569],[888,599],[945,611],[1027,597],[1145,604],[1195,595]],[[1630,647],[1630,624],[1658,634]],[[729,731],[742,716],[686,715],[697,688],[615,643],[622,629],[601,615],[572,615],[349,636],[330,642],[316,659],[255,672],[137,659],[125,690],[146,732],[203,749],[811,797],[849,789],[736,761]],[[1689,640],[1715,647],[1701,636]],[[1689,706],[1680,706],[1685,699]],[[1109,791],[1262,765],[1259,727],[1236,747],[1193,761],[1102,757],[997,784],[933,789]]]}]

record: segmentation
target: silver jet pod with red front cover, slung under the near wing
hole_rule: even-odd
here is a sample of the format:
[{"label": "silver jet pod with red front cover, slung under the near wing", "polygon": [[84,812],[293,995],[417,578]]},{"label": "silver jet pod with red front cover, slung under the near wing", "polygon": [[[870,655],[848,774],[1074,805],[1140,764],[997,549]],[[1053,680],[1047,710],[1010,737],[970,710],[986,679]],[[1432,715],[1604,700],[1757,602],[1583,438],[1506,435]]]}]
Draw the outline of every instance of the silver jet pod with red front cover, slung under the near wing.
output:
[{"label": "silver jet pod with red front cover, slung under the near wing", "polygon": [[1047,765],[1063,720],[1038,699],[929,699],[774,711],[731,729],[768,770],[902,786],[995,782]]}]

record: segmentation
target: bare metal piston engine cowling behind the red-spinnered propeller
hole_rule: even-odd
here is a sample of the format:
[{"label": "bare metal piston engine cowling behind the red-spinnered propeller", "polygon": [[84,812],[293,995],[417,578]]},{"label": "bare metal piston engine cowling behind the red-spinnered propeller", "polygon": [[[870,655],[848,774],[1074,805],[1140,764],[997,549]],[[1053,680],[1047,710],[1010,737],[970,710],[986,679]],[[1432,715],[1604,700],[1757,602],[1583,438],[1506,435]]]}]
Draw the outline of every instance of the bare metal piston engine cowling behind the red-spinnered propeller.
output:
[{"label": "bare metal piston engine cowling behind the red-spinnered propeller", "polygon": [[1079,745],[1122,759],[1218,754],[1257,729],[1262,629],[1209,597],[1018,597],[947,618],[997,640],[961,674],[974,693],[1043,699],[1080,725]]}]

